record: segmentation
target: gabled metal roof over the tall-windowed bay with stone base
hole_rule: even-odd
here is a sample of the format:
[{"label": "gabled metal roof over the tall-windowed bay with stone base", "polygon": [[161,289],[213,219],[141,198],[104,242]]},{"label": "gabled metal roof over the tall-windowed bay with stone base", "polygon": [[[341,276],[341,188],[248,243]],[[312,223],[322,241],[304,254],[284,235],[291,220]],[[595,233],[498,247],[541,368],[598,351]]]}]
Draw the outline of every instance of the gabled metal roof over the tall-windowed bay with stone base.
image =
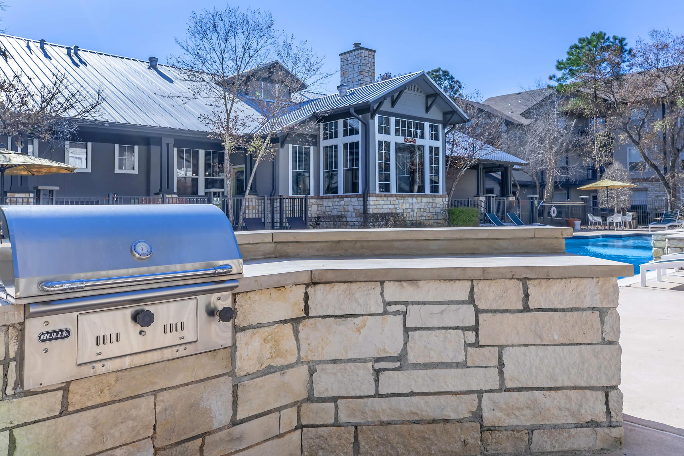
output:
[{"label": "gabled metal roof over the tall-windowed bay with stone base", "polygon": [[[453,103],[453,100],[451,100],[451,98],[432,81],[425,71],[417,71],[409,73],[408,75],[398,76],[348,90],[346,96],[339,96],[339,93],[335,93],[317,98],[306,106],[282,116],[280,124],[285,128],[304,122],[304,120],[320,113],[330,113],[332,111],[356,107],[358,105],[366,105],[376,101],[379,102],[380,100],[387,98],[393,92],[402,90],[406,85],[417,82],[421,83],[425,88],[429,87],[430,90],[432,90],[432,94],[438,94],[442,100],[442,107],[445,108],[445,110],[448,109],[456,112],[456,116],[449,122],[450,124],[460,124],[468,121],[468,116],[466,116],[456,103]],[[423,92],[425,92],[425,90],[423,90]]]}]

